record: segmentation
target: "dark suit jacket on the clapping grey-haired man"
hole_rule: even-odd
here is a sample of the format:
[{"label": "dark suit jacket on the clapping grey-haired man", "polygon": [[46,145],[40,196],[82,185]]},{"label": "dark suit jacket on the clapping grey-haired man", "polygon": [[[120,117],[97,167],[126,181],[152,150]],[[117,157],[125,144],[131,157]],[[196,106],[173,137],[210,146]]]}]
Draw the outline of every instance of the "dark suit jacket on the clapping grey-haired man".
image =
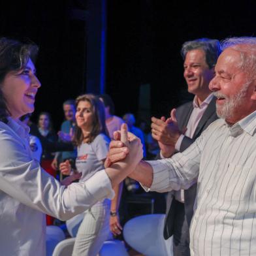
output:
[{"label": "dark suit jacket on the clapping grey-haired man", "polygon": [[[183,127],[187,126],[191,113],[193,111],[193,102],[185,103],[182,106],[179,106],[176,110],[176,118],[178,121],[178,127],[182,130]],[[200,136],[202,131],[204,131],[210,123],[217,119],[216,114],[216,98],[210,101],[210,104],[206,108],[202,118],[197,125],[197,129],[195,130],[195,134],[193,138],[189,138],[187,136],[182,140],[182,144],[180,146],[180,152],[183,152],[187,149],[195,139]],[[193,216],[193,206],[195,202],[195,197],[197,195],[197,184],[192,185],[189,189],[184,191],[184,206],[185,206],[185,215],[187,217],[187,223],[190,225],[192,216]],[[168,239],[172,235],[172,226],[174,223],[174,214],[175,214],[175,203],[173,202],[172,208],[170,210],[172,199],[174,195],[172,191],[170,191],[167,195],[167,214],[165,217],[165,229],[164,229],[164,237]]]}]

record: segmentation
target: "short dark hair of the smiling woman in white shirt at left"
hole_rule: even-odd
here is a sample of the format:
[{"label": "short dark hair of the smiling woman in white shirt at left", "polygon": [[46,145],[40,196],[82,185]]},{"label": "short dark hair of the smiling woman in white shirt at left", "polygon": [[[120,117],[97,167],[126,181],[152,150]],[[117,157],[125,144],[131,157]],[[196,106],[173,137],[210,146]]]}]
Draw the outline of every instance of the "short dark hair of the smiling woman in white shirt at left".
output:
[{"label": "short dark hair of the smiling woman in white shirt at left", "polygon": [[7,123],[10,112],[1,90],[1,84],[8,72],[19,71],[27,65],[29,58],[35,62],[38,47],[33,42],[20,42],[18,40],[0,38],[0,121]]}]

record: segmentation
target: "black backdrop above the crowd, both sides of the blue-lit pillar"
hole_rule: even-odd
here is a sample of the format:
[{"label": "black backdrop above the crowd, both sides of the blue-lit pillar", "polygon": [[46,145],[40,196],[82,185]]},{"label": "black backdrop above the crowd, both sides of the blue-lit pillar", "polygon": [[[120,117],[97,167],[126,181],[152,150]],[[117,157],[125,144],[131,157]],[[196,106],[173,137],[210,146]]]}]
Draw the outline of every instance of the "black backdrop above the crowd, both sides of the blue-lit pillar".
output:
[{"label": "black backdrop above the crowd, both sides of the blue-lit pillar", "polygon": [[[86,19],[71,14],[75,9],[88,15],[88,1],[4,2],[0,35],[26,37],[40,47],[37,74],[42,87],[33,120],[48,111],[58,129],[63,101],[89,92]],[[138,112],[141,84],[150,84],[150,115],[167,116],[172,107],[191,99],[182,74],[183,42],[255,35],[255,3],[249,1],[107,0],[106,13],[105,91],[120,116]]]}]

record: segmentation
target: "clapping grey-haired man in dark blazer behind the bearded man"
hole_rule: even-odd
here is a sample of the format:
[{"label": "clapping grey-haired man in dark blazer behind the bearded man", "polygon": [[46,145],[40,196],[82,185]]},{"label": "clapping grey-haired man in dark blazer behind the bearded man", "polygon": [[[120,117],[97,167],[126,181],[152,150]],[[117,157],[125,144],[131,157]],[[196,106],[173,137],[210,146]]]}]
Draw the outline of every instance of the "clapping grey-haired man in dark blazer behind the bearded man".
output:
[{"label": "clapping grey-haired man in dark blazer behind the bearded man", "polygon": [[[194,100],[172,110],[165,120],[152,118],[152,136],[159,142],[161,158],[182,152],[217,119],[216,98],[208,84],[214,77],[214,66],[219,56],[219,41],[197,39],[182,46],[184,78]],[[164,238],[173,235],[174,256],[189,252],[189,225],[197,194],[197,180],[185,191],[170,191],[167,195],[167,214]]]}]

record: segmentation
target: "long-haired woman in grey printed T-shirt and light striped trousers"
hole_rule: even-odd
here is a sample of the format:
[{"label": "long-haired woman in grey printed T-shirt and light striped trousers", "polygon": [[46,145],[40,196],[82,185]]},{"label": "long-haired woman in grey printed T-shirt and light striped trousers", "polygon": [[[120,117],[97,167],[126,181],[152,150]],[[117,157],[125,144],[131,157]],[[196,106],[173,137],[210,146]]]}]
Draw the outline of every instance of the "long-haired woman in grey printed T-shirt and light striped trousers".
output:
[{"label": "long-haired woman in grey printed T-shirt and light striped trousers", "polygon": [[[95,172],[104,168],[108,153],[108,131],[105,125],[104,104],[95,95],[81,95],[76,99],[76,129],[74,142],[78,147],[76,170],[69,161],[61,163],[63,174],[80,172],[81,182],[88,180]],[[93,205],[84,214],[76,234],[73,255],[97,255],[110,232],[110,200],[104,199]]]}]

